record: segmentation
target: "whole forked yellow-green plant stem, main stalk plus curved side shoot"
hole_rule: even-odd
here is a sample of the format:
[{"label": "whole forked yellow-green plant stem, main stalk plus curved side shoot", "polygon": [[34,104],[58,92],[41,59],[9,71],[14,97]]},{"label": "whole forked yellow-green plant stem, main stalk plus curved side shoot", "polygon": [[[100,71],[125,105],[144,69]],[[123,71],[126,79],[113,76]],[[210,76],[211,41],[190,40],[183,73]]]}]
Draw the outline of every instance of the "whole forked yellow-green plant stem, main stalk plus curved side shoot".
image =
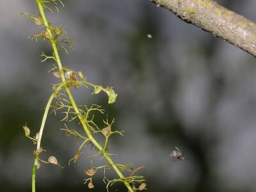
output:
[{"label": "whole forked yellow-green plant stem, main stalk plus curved side shoot", "polygon": [[[106,143],[105,143],[104,147],[102,147],[95,140],[95,138],[93,138],[92,132],[90,131],[90,127],[88,126],[88,122],[86,122],[84,120],[84,116],[83,116],[83,114],[81,112],[81,109],[79,109],[77,107],[76,101],[75,101],[72,93],[70,92],[70,88],[69,88],[70,85],[68,84],[68,81],[65,78],[65,68],[63,68],[63,65],[61,64],[61,59],[60,59],[60,55],[59,55],[58,47],[57,47],[58,41],[56,40],[55,36],[52,34],[51,24],[49,24],[49,22],[48,22],[48,20],[47,20],[47,18],[45,16],[45,6],[44,6],[45,1],[36,0],[36,3],[38,4],[38,9],[40,11],[40,17],[42,18],[42,24],[44,24],[44,26],[45,26],[45,32],[44,32],[44,34],[41,33],[41,35],[44,35],[44,38],[46,38],[47,40],[49,40],[51,42],[52,50],[53,50],[52,58],[56,61],[57,65],[58,65],[58,70],[59,70],[59,74],[60,74],[61,82],[62,83],[58,86],[58,88],[56,88],[54,90],[54,93],[52,93],[49,101],[47,102],[47,105],[46,105],[46,108],[45,108],[45,111],[44,111],[44,116],[43,116],[43,119],[42,119],[42,125],[40,127],[40,132],[39,132],[38,138],[36,139],[37,140],[36,141],[37,147],[36,147],[36,150],[34,152],[34,154],[35,154],[35,162],[33,164],[33,173],[32,173],[32,191],[33,192],[36,191],[36,168],[38,167],[38,163],[40,163],[40,161],[42,161],[42,160],[39,159],[39,154],[43,150],[42,147],[41,147],[41,141],[42,141],[42,134],[43,134],[43,131],[44,131],[44,125],[45,125],[45,122],[46,122],[46,119],[47,119],[47,114],[49,112],[49,108],[51,107],[51,103],[52,103],[52,100],[54,99],[54,97],[56,97],[56,95],[60,92],[60,90],[62,88],[65,88],[65,92],[68,95],[68,99],[69,99],[69,102],[70,102],[70,105],[71,105],[69,108],[74,109],[74,114],[76,114],[77,118],[79,118],[79,121],[81,122],[81,125],[83,126],[84,132],[86,133],[86,136],[88,137],[87,140],[90,141],[90,143],[92,143],[92,145],[97,148],[99,153],[101,153],[102,156],[104,156],[106,158],[106,160],[109,163],[109,166],[111,166],[111,168],[113,168],[113,170],[115,170],[116,174],[119,177],[119,179],[110,180],[110,181],[108,180],[109,182],[108,182],[108,185],[107,185],[107,189],[108,189],[108,186],[109,186],[110,182],[113,182],[113,183],[114,182],[124,182],[124,184],[127,187],[127,189],[130,192],[133,192],[134,189],[131,187],[131,184],[133,184],[133,182],[134,182],[134,180],[136,178],[135,177],[124,177],[124,175],[121,172],[121,170],[125,170],[125,168],[120,166],[119,164],[115,164],[113,162],[113,160],[111,159],[110,154],[108,154],[106,152],[106,143],[108,142],[108,137],[109,136],[106,136]],[[38,20],[36,20],[36,21],[38,21]],[[57,34],[57,32],[56,32],[56,34]],[[45,58],[45,60],[46,59],[47,58]],[[97,89],[99,89],[99,92],[101,90],[103,90],[104,92],[108,93],[108,95],[112,95],[113,96],[113,93],[109,91],[109,88],[104,89],[101,86],[95,86],[94,84],[91,84],[91,83],[88,83],[88,82],[85,82],[84,84],[88,84],[88,85],[93,86],[95,88],[95,93],[96,93]],[[114,96],[116,97],[115,94],[114,94]],[[72,132],[70,130],[68,130],[68,131]],[[120,133],[120,132],[118,132],[118,133]],[[76,132],[72,132],[72,134],[76,134]],[[86,142],[84,142],[84,143],[86,143]],[[83,143],[83,145],[84,145],[84,143]],[[79,148],[79,150],[80,150],[80,148]],[[43,161],[43,162],[45,163],[45,161]],[[106,167],[104,167],[104,170],[105,170],[105,168]],[[140,178],[140,180],[136,180],[136,182],[142,182],[143,181],[141,179],[142,177],[139,177],[139,178]],[[93,188],[94,187],[93,184],[92,184],[92,178],[90,178],[90,183],[89,183],[88,187],[89,188]]]}]

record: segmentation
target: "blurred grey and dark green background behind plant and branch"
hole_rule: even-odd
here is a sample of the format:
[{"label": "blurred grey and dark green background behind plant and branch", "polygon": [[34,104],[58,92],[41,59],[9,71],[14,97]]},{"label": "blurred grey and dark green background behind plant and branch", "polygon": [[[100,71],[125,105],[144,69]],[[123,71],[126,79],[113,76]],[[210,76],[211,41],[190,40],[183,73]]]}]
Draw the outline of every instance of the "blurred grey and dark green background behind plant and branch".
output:
[{"label": "blurred grey and dark green background behind plant and branch", "polygon": [[[72,89],[77,102],[100,104],[115,118],[113,129],[125,131],[109,143],[116,163],[145,166],[138,174],[148,191],[256,191],[253,56],[147,0],[64,3],[60,13],[49,14],[76,39],[68,56],[61,52],[63,65],[118,93],[108,105],[104,93]],[[256,22],[256,1],[218,3]],[[35,1],[0,0],[0,10],[0,191],[30,191],[35,145],[22,125],[38,132],[51,84],[60,80],[49,73],[51,61],[40,62],[42,51],[51,53],[49,43],[26,38],[40,29],[19,13],[38,14]],[[65,168],[42,164],[37,191],[106,191],[102,173],[94,189],[83,184],[93,148],[68,166],[79,145],[60,131],[61,118],[47,119],[42,158],[54,155]],[[172,161],[174,147],[189,158]],[[117,184],[110,191],[126,189]]]}]

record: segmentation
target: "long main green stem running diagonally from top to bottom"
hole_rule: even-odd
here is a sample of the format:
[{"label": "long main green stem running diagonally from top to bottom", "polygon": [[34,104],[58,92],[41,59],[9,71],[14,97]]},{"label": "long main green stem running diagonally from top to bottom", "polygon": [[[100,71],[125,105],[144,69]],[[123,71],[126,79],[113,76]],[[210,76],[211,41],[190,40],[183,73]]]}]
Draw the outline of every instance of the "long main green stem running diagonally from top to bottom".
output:
[{"label": "long main green stem running diagonally from top to bottom", "polygon": [[[56,58],[56,63],[58,65],[58,68],[59,68],[60,73],[61,73],[61,81],[63,83],[65,83],[66,79],[65,79],[65,76],[64,76],[63,67],[62,67],[62,64],[61,64],[60,55],[59,55],[58,48],[57,48],[57,42],[54,39],[54,37],[52,36],[51,30],[49,29],[49,24],[48,24],[48,21],[47,21],[47,19],[45,17],[44,8],[42,6],[42,1],[41,0],[36,0],[36,2],[38,4],[40,15],[42,17],[42,20],[44,21],[44,25],[46,27],[46,30],[47,30],[47,32],[49,33],[49,36],[50,36],[49,40],[51,41],[52,49],[53,49],[53,52],[54,52],[54,57]],[[76,104],[76,102],[74,100],[74,97],[73,97],[72,93],[70,92],[70,89],[68,88],[68,86],[66,84],[64,85],[64,87],[65,87],[67,95],[68,95],[68,97],[70,99],[70,102],[72,104],[72,107],[74,108],[74,111],[76,112],[76,114],[77,114],[77,116],[78,116],[78,118],[79,118],[79,120],[80,120],[80,122],[81,122],[81,124],[83,126],[83,129],[86,132],[88,138],[93,143],[93,145],[95,147],[97,147],[100,152],[102,152],[103,156],[107,159],[107,161],[112,166],[113,170],[115,170],[116,174],[120,177],[120,179],[124,179],[125,178],[124,175],[117,168],[116,164],[113,162],[111,157],[109,157],[109,155],[107,154],[106,150],[104,150],[104,148],[102,148],[101,145],[93,138],[90,130],[88,129],[88,126],[87,126],[86,122],[84,122],[84,120],[83,120],[83,117],[82,117],[83,115],[81,115],[79,109],[77,108],[77,104]],[[34,168],[33,168],[33,170],[34,170]],[[125,180],[123,180],[123,182],[124,182],[125,186],[127,187],[127,189],[130,192],[134,192],[134,190],[130,186],[129,182],[127,182]]]}]

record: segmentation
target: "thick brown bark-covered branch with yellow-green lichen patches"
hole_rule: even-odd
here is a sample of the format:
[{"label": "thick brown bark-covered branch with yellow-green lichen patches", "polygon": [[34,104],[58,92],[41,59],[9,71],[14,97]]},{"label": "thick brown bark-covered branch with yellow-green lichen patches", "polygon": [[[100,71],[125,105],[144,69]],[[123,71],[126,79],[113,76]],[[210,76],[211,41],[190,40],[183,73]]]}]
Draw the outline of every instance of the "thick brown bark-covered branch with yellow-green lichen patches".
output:
[{"label": "thick brown bark-covered branch with yellow-green lichen patches", "polygon": [[256,24],[211,0],[150,0],[256,56]]}]

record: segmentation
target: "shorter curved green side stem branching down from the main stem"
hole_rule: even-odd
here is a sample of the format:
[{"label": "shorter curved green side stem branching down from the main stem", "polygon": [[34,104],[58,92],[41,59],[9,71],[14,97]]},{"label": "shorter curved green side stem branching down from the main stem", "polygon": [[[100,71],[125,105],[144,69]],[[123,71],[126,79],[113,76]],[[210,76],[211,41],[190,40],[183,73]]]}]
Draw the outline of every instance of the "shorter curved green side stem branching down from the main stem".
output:
[{"label": "shorter curved green side stem branching down from the main stem", "polygon": [[[40,131],[39,131],[39,134],[38,134],[38,140],[36,141],[36,150],[38,150],[40,147],[41,147],[41,140],[42,140],[42,135],[43,135],[43,132],[44,132],[44,125],[45,125],[45,122],[46,122],[46,119],[47,119],[47,115],[49,113],[49,109],[51,107],[51,103],[52,103],[52,100],[54,99],[54,97],[56,96],[56,94],[58,92],[60,92],[61,88],[63,88],[63,85],[64,83],[60,84],[60,86],[58,86],[58,88],[56,88],[56,90],[54,90],[54,92],[52,93],[51,97],[49,98],[47,104],[46,104],[46,107],[45,107],[45,110],[44,110],[44,116],[43,116],[43,119],[42,119],[42,124],[41,124],[41,127],[40,127]],[[34,165],[33,165],[33,172],[32,172],[32,191],[35,192],[36,191],[36,164],[38,163],[38,156],[35,155],[35,161],[34,161]]]}]

